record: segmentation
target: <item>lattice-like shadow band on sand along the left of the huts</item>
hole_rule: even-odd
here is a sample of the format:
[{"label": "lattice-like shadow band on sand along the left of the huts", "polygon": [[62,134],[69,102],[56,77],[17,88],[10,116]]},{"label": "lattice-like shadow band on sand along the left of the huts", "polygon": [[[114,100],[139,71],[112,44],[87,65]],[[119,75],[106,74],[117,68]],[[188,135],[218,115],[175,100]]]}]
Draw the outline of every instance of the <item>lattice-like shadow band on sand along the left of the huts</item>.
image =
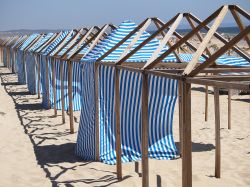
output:
[{"label": "lattice-like shadow band on sand along the left of the huts", "polygon": [[[6,70],[6,68],[0,67],[0,78],[2,82],[1,85],[4,87],[5,92],[8,93],[12,98],[15,104],[17,116],[24,129],[24,133],[29,137],[33,145],[37,163],[43,169],[46,177],[49,178],[53,187],[57,187],[59,185],[71,187],[75,186],[76,183],[78,183],[78,185],[81,185],[81,183],[95,183],[95,186],[110,186],[112,184],[120,182],[117,180],[115,172],[104,170],[99,170],[99,172],[103,173],[103,176],[100,178],[84,178],[78,180],[61,181],[65,173],[74,171],[78,167],[82,169],[92,162],[84,162],[82,159],[75,156],[75,143],[68,142],[65,144],[55,145],[54,143],[52,144],[51,142],[49,142],[50,140],[56,141],[59,138],[65,138],[66,136],[69,136],[69,131],[56,131],[57,127],[65,124],[56,124],[53,122],[49,122],[49,119],[54,118],[54,116],[44,115],[42,111],[46,109],[42,106],[41,103],[21,103],[23,99],[27,100],[27,98],[25,98],[27,97],[27,95],[31,94],[27,91],[27,88],[24,85],[21,85],[20,87],[18,82],[16,82],[17,78],[15,74],[1,72]],[[15,80],[15,82],[13,82],[13,80]],[[14,89],[14,91],[11,91],[10,88]],[[31,95],[31,97],[35,96]],[[28,101],[30,99],[31,98],[28,98]],[[0,115],[4,115],[4,113],[0,113]],[[41,132],[45,128],[48,129],[47,132]],[[44,142],[45,145],[43,145]],[[55,169],[54,172],[52,172],[53,168],[56,168],[56,174]],[[131,176],[124,176],[123,180],[126,180],[129,177]],[[98,183],[101,183],[102,185],[98,185]]]}]

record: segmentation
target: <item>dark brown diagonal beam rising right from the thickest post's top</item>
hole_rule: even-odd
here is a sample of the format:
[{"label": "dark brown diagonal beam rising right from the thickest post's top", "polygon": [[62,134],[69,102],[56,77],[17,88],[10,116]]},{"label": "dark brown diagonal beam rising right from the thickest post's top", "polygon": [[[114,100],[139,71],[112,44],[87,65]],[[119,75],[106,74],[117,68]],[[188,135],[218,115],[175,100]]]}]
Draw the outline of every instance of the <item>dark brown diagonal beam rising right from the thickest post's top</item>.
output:
[{"label": "dark brown diagonal beam rising right from the thickest post's top", "polygon": [[224,54],[228,49],[230,49],[233,45],[235,45],[237,42],[239,42],[246,34],[250,32],[250,26],[246,27],[242,32],[240,32],[238,35],[236,35],[232,40],[230,40],[227,45],[224,45],[221,47],[218,51],[216,51],[208,60],[200,64],[197,68],[194,70],[186,71],[184,70],[183,74],[187,74],[188,76],[195,76],[197,75],[201,70],[207,68],[209,65],[211,65],[217,58],[219,58],[222,54]]}]

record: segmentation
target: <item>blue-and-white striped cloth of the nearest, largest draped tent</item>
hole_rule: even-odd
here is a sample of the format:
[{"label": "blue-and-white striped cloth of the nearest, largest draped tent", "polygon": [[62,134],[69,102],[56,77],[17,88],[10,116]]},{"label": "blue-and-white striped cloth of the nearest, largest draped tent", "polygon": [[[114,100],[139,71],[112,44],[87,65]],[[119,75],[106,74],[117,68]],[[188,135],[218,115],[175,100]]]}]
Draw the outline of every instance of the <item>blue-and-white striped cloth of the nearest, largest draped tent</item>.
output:
[{"label": "blue-and-white striped cloth of the nearest, largest draped tent", "polygon": [[[99,129],[100,129],[100,160],[107,164],[116,163],[115,154],[115,111],[114,111],[114,67],[100,65],[98,82],[95,82],[95,61],[115,44],[128,35],[137,25],[132,21],[123,22],[117,30],[100,42],[85,58],[82,59],[82,110],[77,137],[76,154],[85,160],[95,160],[96,154],[96,108],[95,84],[98,84]],[[150,35],[144,32],[133,46],[138,46]],[[104,62],[115,62],[131,43],[132,36],[119,48],[104,58]],[[141,48],[129,62],[146,62],[159,46],[159,41],[153,39]],[[169,59],[168,59],[169,58]],[[166,61],[174,61],[171,54]],[[135,72],[121,70],[121,142],[122,161],[129,162],[141,158],[141,75]],[[178,155],[173,134],[172,122],[174,106],[177,99],[178,81],[150,76],[149,99],[150,135],[149,157],[156,159],[173,159]],[[153,91],[154,90],[154,91]],[[157,91],[156,91],[157,90]],[[160,105],[160,107],[158,107]]]}]

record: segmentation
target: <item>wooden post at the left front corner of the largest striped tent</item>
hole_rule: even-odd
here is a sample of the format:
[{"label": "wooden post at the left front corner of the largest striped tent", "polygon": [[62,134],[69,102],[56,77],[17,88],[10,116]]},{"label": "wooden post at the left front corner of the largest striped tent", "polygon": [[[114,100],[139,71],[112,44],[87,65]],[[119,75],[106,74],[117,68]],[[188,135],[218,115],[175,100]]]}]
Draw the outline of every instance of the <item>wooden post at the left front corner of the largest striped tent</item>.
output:
[{"label": "wooden post at the left front corner of the largest striped tent", "polygon": [[98,84],[99,84],[99,80],[98,80],[98,76],[99,75],[99,66],[98,63],[95,63],[95,127],[96,127],[96,161],[100,160],[100,139],[99,139],[99,133],[100,133],[100,129],[99,129],[99,97],[98,97]]}]

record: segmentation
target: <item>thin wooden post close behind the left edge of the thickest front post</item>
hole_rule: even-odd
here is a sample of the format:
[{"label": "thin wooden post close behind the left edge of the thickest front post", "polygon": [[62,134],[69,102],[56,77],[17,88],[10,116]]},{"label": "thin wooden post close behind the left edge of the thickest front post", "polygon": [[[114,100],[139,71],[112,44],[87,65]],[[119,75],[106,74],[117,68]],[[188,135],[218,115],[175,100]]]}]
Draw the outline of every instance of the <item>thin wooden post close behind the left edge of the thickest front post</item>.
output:
[{"label": "thin wooden post close behind the left edge of the thickest front post", "polygon": [[178,90],[179,90],[179,139],[180,139],[180,144],[179,144],[179,152],[180,152],[180,157],[182,154],[182,127],[183,127],[183,106],[182,106],[182,97],[183,97],[183,82],[179,81],[178,83]]}]

